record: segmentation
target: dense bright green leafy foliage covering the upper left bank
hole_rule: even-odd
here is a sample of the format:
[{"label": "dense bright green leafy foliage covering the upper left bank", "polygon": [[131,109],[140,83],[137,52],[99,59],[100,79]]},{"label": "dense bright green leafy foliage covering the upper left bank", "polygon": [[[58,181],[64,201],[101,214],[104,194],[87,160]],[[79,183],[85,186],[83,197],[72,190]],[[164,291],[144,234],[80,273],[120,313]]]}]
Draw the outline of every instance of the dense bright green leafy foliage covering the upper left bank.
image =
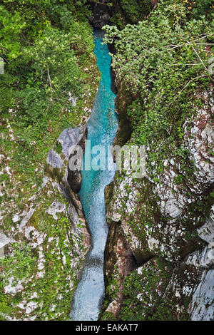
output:
[{"label": "dense bright green leafy foliage covering the upper left bank", "polygon": [[[21,142],[14,152],[20,169],[37,154],[39,160],[45,158],[58,133],[78,123],[83,113],[81,97],[89,80],[84,68],[93,51],[85,3],[1,1],[1,146],[11,146],[6,125],[12,127]],[[76,108],[70,95],[80,98]]]}]

